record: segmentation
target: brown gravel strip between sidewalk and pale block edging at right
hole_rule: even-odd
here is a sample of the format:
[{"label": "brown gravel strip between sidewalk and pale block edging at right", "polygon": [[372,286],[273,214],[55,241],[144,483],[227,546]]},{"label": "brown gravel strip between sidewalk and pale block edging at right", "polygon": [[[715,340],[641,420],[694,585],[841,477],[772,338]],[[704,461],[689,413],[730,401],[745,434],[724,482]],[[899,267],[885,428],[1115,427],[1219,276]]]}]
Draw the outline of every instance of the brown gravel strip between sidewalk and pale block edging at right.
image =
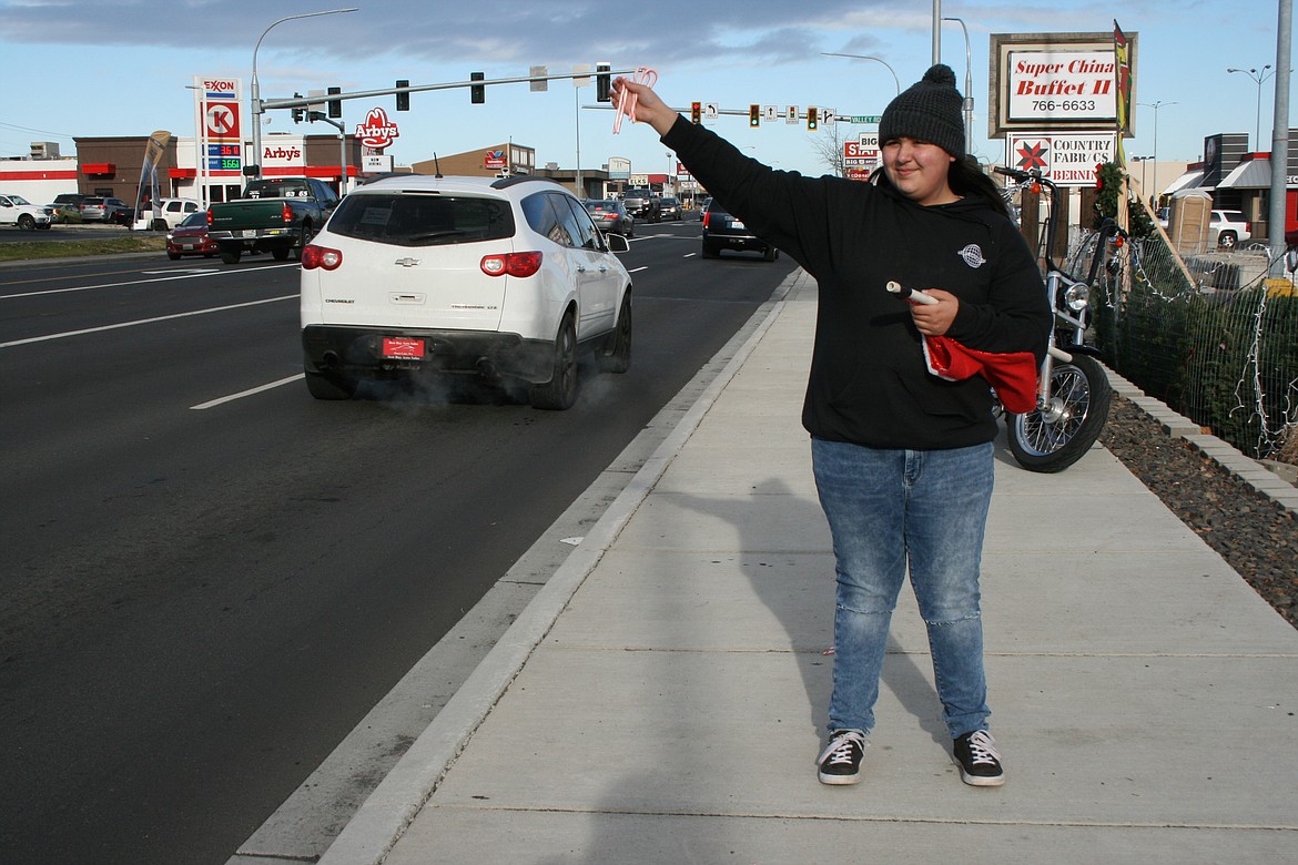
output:
[{"label": "brown gravel strip between sidewalk and pale block edging at right", "polygon": [[1099,442],[1298,628],[1298,520],[1114,394]]}]

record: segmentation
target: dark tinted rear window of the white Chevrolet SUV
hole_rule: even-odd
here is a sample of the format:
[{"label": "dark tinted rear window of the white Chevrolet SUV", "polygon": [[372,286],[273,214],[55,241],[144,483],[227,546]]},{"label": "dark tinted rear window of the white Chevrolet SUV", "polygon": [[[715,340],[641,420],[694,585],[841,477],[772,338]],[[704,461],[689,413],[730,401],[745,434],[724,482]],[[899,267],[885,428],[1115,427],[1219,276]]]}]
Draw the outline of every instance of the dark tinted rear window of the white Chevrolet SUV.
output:
[{"label": "dark tinted rear window of the white Chevrolet SUV", "polygon": [[343,198],[328,230],[397,246],[436,246],[514,236],[508,201],[419,193],[353,195]]}]

